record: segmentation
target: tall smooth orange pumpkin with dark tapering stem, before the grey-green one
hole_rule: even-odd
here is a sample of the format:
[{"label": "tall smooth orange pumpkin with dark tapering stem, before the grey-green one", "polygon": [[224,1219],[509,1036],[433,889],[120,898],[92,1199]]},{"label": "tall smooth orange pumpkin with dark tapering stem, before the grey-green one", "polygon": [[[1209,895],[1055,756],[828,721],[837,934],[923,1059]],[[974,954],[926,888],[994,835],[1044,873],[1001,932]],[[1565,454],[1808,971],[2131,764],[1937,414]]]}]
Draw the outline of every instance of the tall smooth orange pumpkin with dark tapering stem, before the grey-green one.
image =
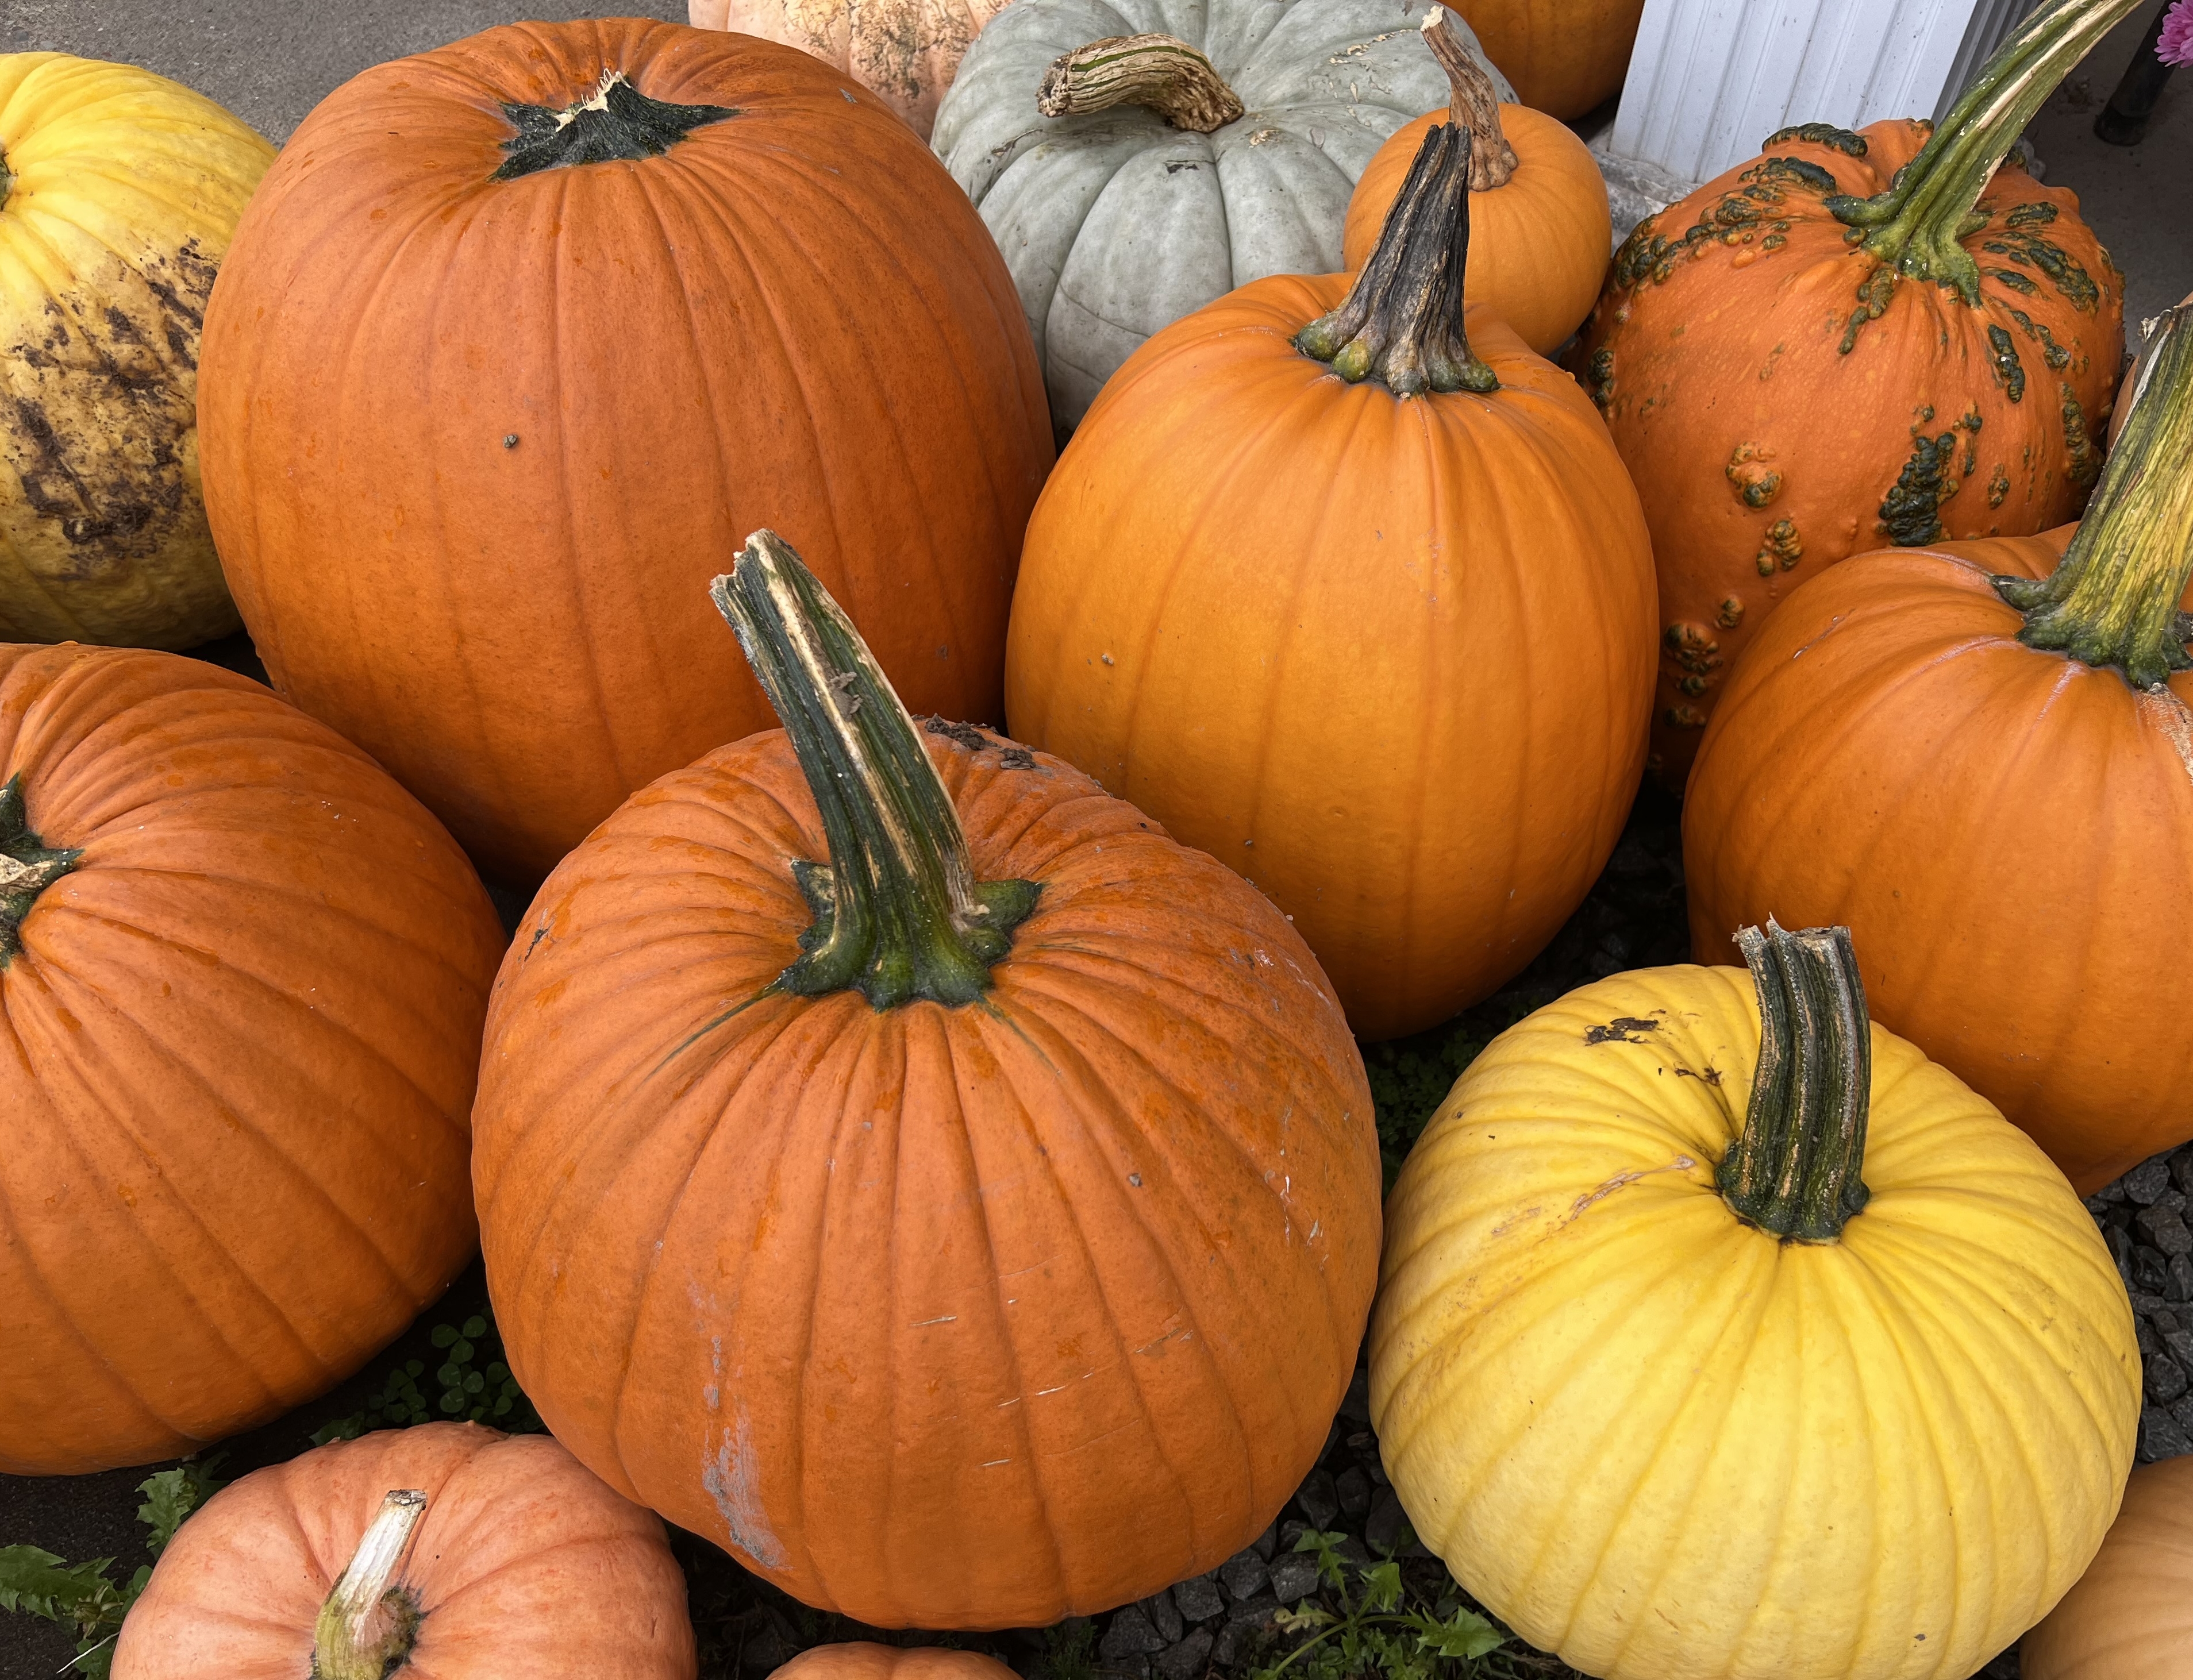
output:
[{"label": "tall smooth orange pumpkin with dark tapering stem, before the grey-green one", "polygon": [[1645,750],[1636,491],[1575,379],[1463,331],[1469,149],[1430,132],[1353,281],[1257,281],[1114,375],[1007,649],[1022,739],[1270,893],[1364,1037],[1537,954]]}]

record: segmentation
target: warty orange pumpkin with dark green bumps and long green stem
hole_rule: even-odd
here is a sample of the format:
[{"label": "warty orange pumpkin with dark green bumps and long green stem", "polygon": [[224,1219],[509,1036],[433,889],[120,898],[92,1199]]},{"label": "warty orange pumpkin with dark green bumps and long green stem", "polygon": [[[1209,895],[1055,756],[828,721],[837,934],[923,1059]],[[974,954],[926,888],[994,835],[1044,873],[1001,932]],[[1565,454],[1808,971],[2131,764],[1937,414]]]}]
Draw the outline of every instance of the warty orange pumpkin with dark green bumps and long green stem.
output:
[{"label": "warty orange pumpkin with dark green bumps and long green stem", "polygon": [[2050,0],[1932,136],[1783,129],[1616,254],[1572,366],[1651,524],[1671,787],[1730,662],[1822,566],[2077,518],[2123,276],[2070,191],[1996,162],[2132,4]]}]

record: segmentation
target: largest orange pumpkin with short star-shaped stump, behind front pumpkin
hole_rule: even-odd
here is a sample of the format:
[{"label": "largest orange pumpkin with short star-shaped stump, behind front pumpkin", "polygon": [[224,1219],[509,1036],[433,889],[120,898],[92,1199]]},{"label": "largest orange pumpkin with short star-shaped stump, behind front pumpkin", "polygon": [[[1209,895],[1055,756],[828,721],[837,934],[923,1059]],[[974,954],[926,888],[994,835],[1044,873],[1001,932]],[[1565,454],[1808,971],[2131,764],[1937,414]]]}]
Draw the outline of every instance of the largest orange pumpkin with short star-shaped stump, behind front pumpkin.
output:
[{"label": "largest orange pumpkin with short star-shaped stump, behind front pumpkin", "polygon": [[768,724],[706,601],[763,520],[917,706],[998,715],[1035,351],[943,164],[805,53],[607,20],[366,70],[268,171],[200,377],[274,686],[498,873]]}]

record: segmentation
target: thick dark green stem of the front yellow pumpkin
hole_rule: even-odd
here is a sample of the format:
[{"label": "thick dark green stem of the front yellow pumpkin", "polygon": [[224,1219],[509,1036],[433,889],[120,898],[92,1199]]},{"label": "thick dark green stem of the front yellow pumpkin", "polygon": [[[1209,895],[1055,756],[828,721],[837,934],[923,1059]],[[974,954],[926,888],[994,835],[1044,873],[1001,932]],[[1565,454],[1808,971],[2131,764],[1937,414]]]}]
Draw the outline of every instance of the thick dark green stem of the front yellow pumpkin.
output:
[{"label": "thick dark green stem of the front yellow pumpkin", "polygon": [[1873,1029],[1849,928],[1737,930],[1759,994],[1759,1066],[1743,1136],[1717,1182],[1737,1215],[1783,1241],[1831,1244],[1866,1206]]}]

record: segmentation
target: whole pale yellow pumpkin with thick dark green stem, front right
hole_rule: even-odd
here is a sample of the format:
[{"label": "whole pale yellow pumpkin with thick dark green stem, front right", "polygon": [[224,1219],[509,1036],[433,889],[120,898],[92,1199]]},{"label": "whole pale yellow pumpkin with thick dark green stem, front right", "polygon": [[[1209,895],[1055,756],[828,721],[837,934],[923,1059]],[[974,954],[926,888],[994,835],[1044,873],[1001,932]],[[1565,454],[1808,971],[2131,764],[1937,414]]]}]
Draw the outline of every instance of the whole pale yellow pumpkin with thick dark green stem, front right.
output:
[{"label": "whole pale yellow pumpkin with thick dark green stem, front right", "polygon": [[1539,1009],[1432,1119],[1386,1208],[1386,1469],[1583,1673],[1963,1680],[2116,1513],[2132,1307],[2048,1158],[1868,1033],[1847,930],[1739,939],[1752,974]]}]

